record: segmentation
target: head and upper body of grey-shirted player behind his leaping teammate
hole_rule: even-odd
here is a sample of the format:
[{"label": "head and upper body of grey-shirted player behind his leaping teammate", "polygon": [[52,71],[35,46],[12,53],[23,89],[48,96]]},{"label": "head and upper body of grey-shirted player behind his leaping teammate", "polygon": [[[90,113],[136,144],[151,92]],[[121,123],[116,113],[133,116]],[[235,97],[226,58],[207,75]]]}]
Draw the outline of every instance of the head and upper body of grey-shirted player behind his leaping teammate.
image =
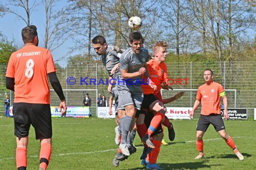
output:
[{"label": "head and upper body of grey-shirted player behind his leaping teammate", "polygon": [[119,48],[120,53],[117,53],[115,51],[116,46],[114,47],[108,45],[106,43],[106,39],[101,35],[97,35],[96,37],[94,37],[92,42],[93,48],[97,55],[101,55],[102,63],[105,66],[107,72],[109,73],[109,80],[112,80],[108,86],[108,91],[111,93],[112,85],[114,84],[115,80],[119,78],[119,58],[124,50]]}]

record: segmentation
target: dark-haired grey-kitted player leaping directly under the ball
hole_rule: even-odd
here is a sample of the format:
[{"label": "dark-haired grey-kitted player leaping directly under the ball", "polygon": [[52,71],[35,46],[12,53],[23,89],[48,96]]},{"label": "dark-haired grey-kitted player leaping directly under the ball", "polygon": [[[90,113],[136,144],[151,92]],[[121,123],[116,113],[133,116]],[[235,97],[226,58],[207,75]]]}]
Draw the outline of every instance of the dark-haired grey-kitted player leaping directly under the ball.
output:
[{"label": "dark-haired grey-kitted player leaping directly under the ball", "polygon": [[[142,48],[143,37],[139,32],[132,32],[129,35],[129,45],[131,46],[125,50],[120,59],[120,74],[117,81],[116,88],[119,93],[119,108],[124,107],[126,115],[119,118],[122,141],[119,144],[119,148],[122,153],[129,156],[129,148],[131,147],[130,138],[128,132],[136,122],[136,112],[141,109],[141,102],[143,100],[143,91],[141,89],[142,74],[148,76],[146,71],[146,62],[150,59],[148,50]],[[149,85],[156,89],[150,79]]]}]

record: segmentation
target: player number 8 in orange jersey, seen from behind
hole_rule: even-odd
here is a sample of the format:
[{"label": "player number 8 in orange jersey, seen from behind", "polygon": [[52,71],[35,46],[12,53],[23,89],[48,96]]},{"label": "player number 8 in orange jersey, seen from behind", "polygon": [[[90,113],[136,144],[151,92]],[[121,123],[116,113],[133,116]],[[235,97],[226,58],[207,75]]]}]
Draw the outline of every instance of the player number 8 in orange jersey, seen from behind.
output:
[{"label": "player number 8 in orange jersey, seen from behind", "polygon": [[14,91],[16,166],[18,170],[26,170],[26,149],[32,125],[35,128],[35,139],[40,140],[39,167],[40,170],[46,170],[52,151],[52,119],[47,76],[61,100],[59,112],[62,116],[66,115],[66,100],[50,51],[38,47],[37,28],[23,28],[22,40],[25,46],[12,53],[5,75],[6,88]]}]

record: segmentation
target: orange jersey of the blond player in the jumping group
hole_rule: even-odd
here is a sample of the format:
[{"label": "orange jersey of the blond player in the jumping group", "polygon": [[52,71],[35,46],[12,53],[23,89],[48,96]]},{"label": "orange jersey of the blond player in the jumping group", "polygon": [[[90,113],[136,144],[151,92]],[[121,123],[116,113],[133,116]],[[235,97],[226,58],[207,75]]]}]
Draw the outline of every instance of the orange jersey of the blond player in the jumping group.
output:
[{"label": "orange jersey of the blond player in the jumping group", "polygon": [[142,83],[141,88],[144,94],[156,94],[161,89],[161,83],[168,79],[166,64],[164,62],[159,64],[155,59],[150,59],[147,62],[147,68],[150,75],[150,80],[153,81],[153,83],[157,86],[157,89],[154,91],[154,89],[145,83]]}]

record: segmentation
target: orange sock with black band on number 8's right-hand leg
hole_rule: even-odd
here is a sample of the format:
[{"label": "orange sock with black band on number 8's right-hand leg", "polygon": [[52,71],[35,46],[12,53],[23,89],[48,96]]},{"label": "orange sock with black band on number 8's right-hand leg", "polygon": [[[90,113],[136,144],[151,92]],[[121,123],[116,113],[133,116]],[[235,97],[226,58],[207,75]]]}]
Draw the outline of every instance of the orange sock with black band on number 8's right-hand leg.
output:
[{"label": "orange sock with black band on number 8's right-hand leg", "polygon": [[51,153],[52,153],[52,145],[49,143],[45,143],[41,145],[41,149],[40,149],[40,168],[44,168],[44,170],[46,170],[49,161],[50,161],[50,157],[51,157]]}]

